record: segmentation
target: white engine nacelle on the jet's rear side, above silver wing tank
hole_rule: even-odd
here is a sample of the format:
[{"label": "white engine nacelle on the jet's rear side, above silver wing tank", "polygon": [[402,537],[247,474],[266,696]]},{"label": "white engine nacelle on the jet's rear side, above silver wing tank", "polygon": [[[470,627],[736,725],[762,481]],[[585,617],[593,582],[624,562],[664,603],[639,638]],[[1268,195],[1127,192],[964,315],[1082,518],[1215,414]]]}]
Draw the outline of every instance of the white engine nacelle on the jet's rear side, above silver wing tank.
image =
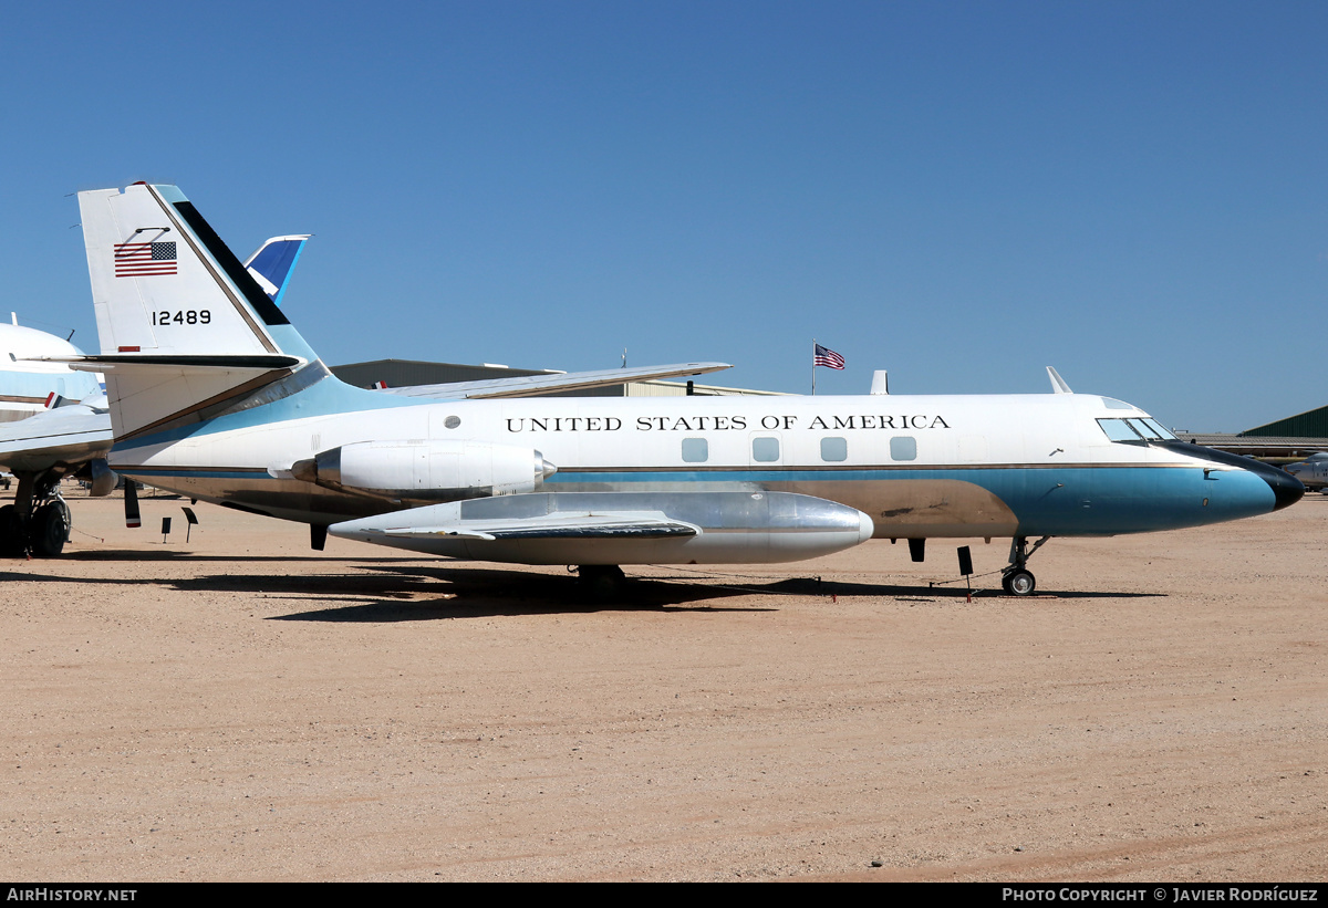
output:
[{"label": "white engine nacelle on the jet's rear side, above silver wing tank", "polygon": [[356,442],[291,466],[327,489],[422,502],[529,492],[555,471],[534,449],[467,441]]}]

